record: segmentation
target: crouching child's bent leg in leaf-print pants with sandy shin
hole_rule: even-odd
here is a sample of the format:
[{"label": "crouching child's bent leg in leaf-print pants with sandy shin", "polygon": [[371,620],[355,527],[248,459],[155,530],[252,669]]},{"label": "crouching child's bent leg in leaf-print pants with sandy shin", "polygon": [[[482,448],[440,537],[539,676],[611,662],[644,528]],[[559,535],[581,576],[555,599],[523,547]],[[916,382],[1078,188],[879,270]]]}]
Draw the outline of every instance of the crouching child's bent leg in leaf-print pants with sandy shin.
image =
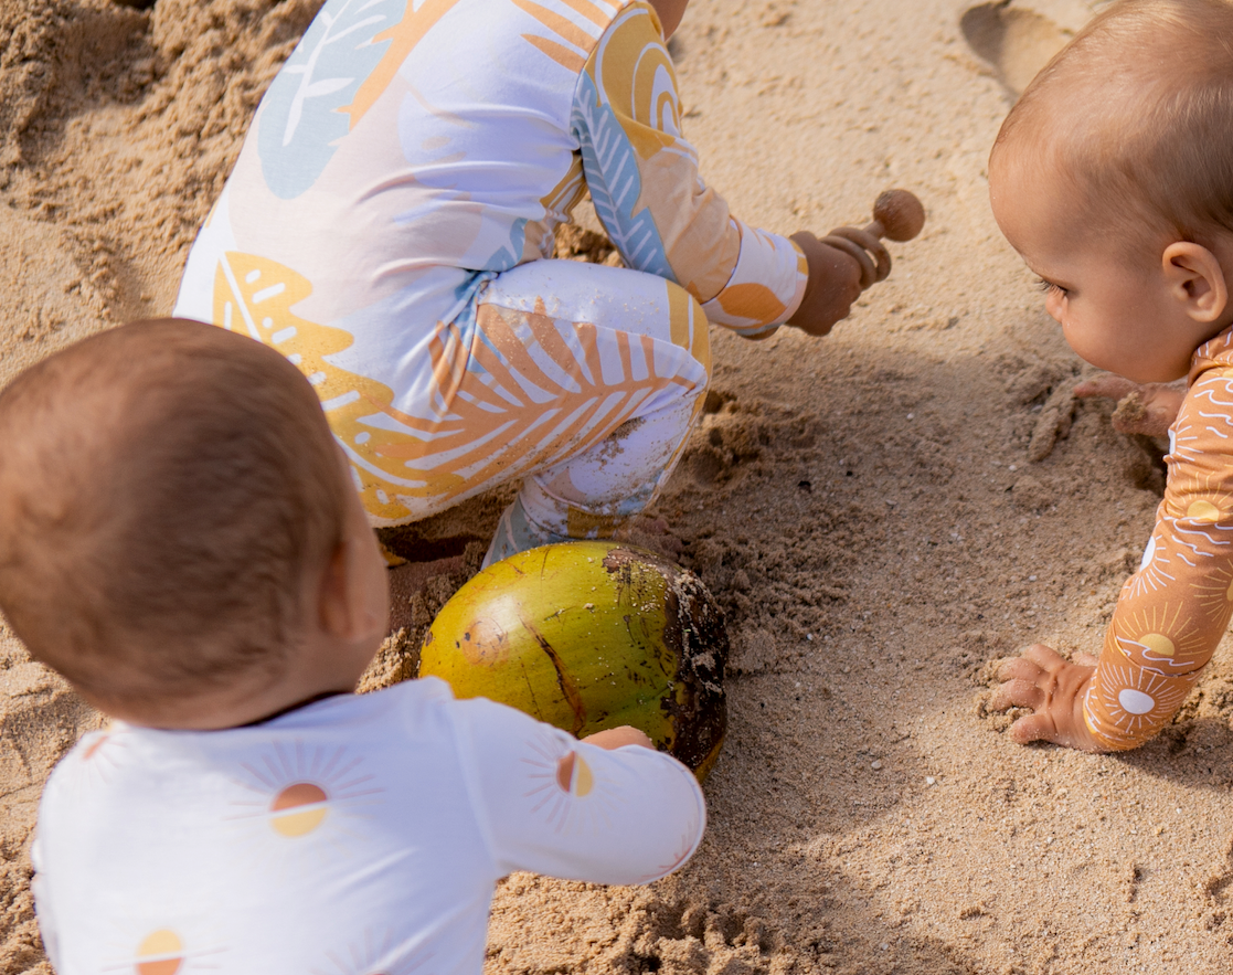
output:
[{"label": "crouching child's bent leg in leaf-print pants with sandy shin", "polygon": [[612,537],[655,499],[702,406],[710,372],[702,308],[653,275],[546,260],[497,279],[476,322],[497,351],[517,340],[555,387],[536,390],[540,443],[555,449],[524,473],[485,563]]}]

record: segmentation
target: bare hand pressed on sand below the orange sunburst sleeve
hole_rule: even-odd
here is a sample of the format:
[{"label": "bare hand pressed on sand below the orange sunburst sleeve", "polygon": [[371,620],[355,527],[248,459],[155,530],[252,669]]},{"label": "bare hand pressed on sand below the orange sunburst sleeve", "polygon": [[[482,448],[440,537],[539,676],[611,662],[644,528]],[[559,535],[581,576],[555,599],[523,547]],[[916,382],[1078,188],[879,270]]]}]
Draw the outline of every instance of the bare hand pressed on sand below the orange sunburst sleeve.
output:
[{"label": "bare hand pressed on sand below the orange sunburst sleeve", "polygon": [[1036,643],[997,671],[1005,680],[994,693],[989,706],[995,711],[1007,708],[1031,708],[1034,714],[1018,719],[1010,726],[1010,736],[1020,745],[1051,741],[1083,752],[1104,751],[1083,719],[1083,699],[1096,672],[1096,658],[1079,655],[1070,662],[1057,652]]}]

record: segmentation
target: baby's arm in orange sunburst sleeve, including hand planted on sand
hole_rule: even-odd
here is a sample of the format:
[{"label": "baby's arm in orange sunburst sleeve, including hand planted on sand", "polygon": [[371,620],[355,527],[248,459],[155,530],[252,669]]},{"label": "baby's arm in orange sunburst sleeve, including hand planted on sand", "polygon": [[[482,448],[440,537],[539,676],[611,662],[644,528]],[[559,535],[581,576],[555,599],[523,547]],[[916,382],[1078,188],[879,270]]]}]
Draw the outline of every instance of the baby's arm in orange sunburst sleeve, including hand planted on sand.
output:
[{"label": "baby's arm in orange sunburst sleeve, including hand planted on sand", "polygon": [[1012,726],[1018,741],[1137,748],[1197,683],[1233,616],[1231,409],[1231,371],[1208,371],[1186,396],[1155,529],[1122,587],[1095,671],[1043,646],[1002,668],[1007,683],[994,704],[1034,711]]}]

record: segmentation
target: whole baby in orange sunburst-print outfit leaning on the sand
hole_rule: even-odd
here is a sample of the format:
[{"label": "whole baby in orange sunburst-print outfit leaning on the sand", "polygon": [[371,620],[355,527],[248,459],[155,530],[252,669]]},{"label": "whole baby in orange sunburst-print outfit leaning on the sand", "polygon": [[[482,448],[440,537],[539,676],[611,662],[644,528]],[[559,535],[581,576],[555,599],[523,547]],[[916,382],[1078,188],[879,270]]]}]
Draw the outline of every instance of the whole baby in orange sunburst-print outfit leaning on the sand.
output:
[{"label": "whole baby in orange sunburst-print outfit leaning on the sand", "polygon": [[1018,741],[1142,745],[1233,615],[1231,37],[1224,0],[1113,4],[1028,86],[994,145],[994,214],[1071,348],[1134,383],[1189,383],[1155,529],[1099,663],[1037,645],[1002,667],[995,706],[1033,710],[1011,727]]}]

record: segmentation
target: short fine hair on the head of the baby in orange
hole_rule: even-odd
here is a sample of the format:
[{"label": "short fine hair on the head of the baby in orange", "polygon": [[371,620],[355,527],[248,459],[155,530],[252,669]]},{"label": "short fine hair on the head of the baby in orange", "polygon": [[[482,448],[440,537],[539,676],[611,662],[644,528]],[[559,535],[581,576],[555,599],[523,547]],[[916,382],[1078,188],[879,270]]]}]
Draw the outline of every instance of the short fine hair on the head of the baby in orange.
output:
[{"label": "short fine hair on the head of the baby in orange", "polygon": [[1032,80],[994,155],[1025,127],[1101,226],[1233,230],[1233,4],[1112,4]]}]

